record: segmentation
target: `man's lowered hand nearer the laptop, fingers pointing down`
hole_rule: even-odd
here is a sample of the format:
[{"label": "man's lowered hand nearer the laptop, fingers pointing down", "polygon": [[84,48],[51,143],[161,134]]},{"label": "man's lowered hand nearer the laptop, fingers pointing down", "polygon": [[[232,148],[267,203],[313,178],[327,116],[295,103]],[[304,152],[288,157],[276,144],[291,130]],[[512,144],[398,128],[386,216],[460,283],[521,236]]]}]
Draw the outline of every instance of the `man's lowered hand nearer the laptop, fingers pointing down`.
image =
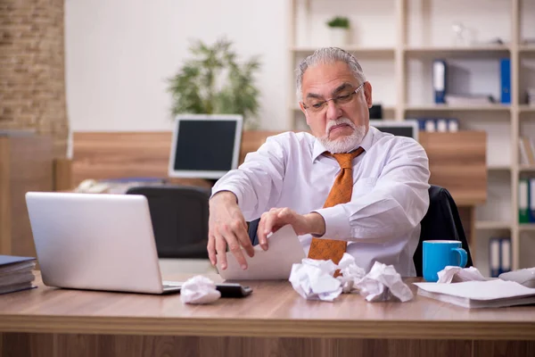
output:
[{"label": "man's lowered hand nearer the laptop, fingers pointing down", "polygon": [[247,222],[236,202],[236,196],[229,191],[218,192],[210,199],[208,256],[210,262],[216,265],[217,253],[223,270],[226,269],[226,245],[242,269],[247,269],[242,247],[250,257],[254,255],[254,250],[247,233]]}]

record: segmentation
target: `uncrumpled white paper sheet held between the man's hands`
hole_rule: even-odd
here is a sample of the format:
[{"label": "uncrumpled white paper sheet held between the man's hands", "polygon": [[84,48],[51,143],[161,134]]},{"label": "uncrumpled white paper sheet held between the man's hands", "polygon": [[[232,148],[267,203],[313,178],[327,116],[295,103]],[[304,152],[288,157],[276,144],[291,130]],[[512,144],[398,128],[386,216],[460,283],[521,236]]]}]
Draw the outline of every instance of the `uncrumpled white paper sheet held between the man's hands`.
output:
[{"label": "uncrumpled white paper sheet held between the man's hands", "polygon": [[243,270],[231,252],[226,253],[226,270],[222,270],[218,258],[218,272],[226,280],[281,280],[290,278],[292,264],[306,258],[299,238],[291,225],[286,225],[268,237],[268,251],[257,245],[251,258],[245,251],[243,256],[248,268]]}]

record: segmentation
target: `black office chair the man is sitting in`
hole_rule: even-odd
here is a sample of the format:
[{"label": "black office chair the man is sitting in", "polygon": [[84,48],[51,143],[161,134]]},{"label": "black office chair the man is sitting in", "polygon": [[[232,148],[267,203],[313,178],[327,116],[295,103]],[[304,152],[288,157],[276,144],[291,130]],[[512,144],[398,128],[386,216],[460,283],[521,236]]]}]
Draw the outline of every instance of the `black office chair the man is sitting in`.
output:
[{"label": "black office chair the man is sitting in", "polygon": [[[472,255],[465,236],[465,229],[457,210],[457,204],[449,191],[440,186],[429,187],[429,208],[421,221],[420,239],[416,252],[413,256],[416,276],[422,277],[422,253],[424,240],[458,240],[468,255],[466,267],[473,265]],[[259,220],[253,220],[249,224],[249,237],[252,245],[259,244],[257,229]]]}]

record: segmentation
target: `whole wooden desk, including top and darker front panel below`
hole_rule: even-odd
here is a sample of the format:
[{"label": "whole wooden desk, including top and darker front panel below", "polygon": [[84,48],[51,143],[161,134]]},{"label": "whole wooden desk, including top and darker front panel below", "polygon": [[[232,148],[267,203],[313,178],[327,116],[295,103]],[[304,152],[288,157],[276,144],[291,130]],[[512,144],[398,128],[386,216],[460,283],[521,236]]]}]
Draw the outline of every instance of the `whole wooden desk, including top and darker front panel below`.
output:
[{"label": "whole wooden desk, including top and darker front panel below", "polygon": [[418,295],[311,302],[287,281],[249,282],[254,292],[244,299],[184,305],[179,295],[37,284],[0,295],[2,357],[535,355],[535,306],[468,310]]}]

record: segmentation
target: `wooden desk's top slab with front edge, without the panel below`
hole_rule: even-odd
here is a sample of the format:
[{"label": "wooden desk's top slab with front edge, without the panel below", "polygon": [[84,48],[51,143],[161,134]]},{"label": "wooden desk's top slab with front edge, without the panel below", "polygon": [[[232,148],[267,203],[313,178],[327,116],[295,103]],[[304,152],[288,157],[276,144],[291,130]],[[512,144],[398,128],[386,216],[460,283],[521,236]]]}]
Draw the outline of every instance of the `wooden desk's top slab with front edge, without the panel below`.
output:
[{"label": "wooden desk's top slab with front edge, without the panel below", "polygon": [[[188,275],[166,279],[184,281]],[[210,277],[220,281],[218,276]],[[307,301],[288,281],[248,281],[252,295],[188,305],[180,295],[138,295],[44,286],[0,295],[0,331],[189,336],[535,339],[535,306],[470,310],[416,295],[368,303],[358,294]]]}]

